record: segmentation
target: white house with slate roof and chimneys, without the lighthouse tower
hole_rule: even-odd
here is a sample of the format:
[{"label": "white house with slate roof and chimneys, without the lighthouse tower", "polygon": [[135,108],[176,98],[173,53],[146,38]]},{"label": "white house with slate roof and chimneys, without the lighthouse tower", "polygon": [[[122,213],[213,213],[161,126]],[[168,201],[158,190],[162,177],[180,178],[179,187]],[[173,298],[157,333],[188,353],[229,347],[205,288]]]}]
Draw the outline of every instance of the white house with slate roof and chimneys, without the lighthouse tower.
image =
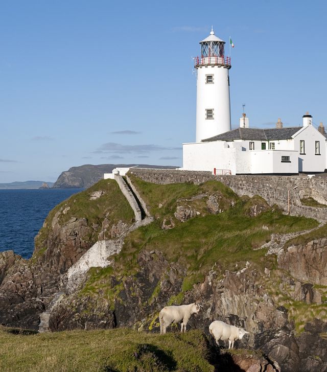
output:
[{"label": "white house with slate roof and chimneys, without the lighthouse tower", "polygon": [[183,144],[182,169],[216,174],[297,174],[327,168],[323,127],[315,129],[308,113],[302,127],[283,128],[278,120],[276,128],[256,129],[244,127],[244,119],[238,129]]}]

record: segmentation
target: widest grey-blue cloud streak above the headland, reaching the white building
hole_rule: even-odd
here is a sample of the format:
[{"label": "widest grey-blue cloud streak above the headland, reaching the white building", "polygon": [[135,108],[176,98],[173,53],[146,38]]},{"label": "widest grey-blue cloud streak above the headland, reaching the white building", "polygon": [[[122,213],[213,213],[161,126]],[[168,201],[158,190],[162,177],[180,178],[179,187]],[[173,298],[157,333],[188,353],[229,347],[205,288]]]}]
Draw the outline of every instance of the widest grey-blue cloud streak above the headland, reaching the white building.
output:
[{"label": "widest grey-blue cloud streak above the headland, reaching the white building", "polygon": [[165,150],[181,150],[181,147],[165,147],[159,145],[122,145],[116,144],[114,142],[107,142],[106,144],[101,145],[96,151],[93,151],[95,154],[103,154],[108,152],[115,152],[120,154],[142,154],[153,151],[165,151]]}]

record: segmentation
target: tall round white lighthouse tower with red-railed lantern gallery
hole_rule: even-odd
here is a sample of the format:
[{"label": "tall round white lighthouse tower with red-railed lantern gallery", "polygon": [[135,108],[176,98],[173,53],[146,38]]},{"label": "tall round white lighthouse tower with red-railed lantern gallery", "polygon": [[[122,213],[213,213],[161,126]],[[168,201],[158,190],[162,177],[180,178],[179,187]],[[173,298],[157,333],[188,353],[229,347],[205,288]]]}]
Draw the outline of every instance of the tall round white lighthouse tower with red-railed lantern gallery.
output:
[{"label": "tall round white lighthouse tower with red-railed lantern gallery", "polygon": [[224,44],[211,30],[200,41],[201,56],[195,58],[196,142],[230,130],[229,68],[230,57],[225,57]]}]

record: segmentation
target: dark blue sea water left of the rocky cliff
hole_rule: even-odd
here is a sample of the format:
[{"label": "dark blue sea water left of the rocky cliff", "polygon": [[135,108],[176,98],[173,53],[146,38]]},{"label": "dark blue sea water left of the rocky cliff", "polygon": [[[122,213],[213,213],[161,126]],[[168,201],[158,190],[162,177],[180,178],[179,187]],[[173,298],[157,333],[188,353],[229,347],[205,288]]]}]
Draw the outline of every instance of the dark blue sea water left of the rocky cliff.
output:
[{"label": "dark blue sea water left of the rocky cliff", "polygon": [[29,259],[34,237],[48,213],[82,189],[0,190],[0,252],[12,249]]}]

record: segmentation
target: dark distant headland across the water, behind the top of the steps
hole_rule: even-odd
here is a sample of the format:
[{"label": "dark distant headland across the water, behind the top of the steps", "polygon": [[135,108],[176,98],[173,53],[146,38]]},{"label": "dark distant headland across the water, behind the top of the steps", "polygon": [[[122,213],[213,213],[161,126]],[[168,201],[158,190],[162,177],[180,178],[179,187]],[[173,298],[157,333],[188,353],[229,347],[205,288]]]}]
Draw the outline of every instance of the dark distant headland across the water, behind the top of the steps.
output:
[{"label": "dark distant headland across the water, behind the top of the steps", "polygon": [[148,164],[100,164],[91,165],[86,164],[80,167],[69,168],[60,174],[57,181],[54,183],[54,189],[83,189],[89,188],[100,179],[103,178],[104,173],[111,173],[116,167],[134,167],[141,168],[158,168],[158,169],[175,169],[170,166],[154,166]]}]

